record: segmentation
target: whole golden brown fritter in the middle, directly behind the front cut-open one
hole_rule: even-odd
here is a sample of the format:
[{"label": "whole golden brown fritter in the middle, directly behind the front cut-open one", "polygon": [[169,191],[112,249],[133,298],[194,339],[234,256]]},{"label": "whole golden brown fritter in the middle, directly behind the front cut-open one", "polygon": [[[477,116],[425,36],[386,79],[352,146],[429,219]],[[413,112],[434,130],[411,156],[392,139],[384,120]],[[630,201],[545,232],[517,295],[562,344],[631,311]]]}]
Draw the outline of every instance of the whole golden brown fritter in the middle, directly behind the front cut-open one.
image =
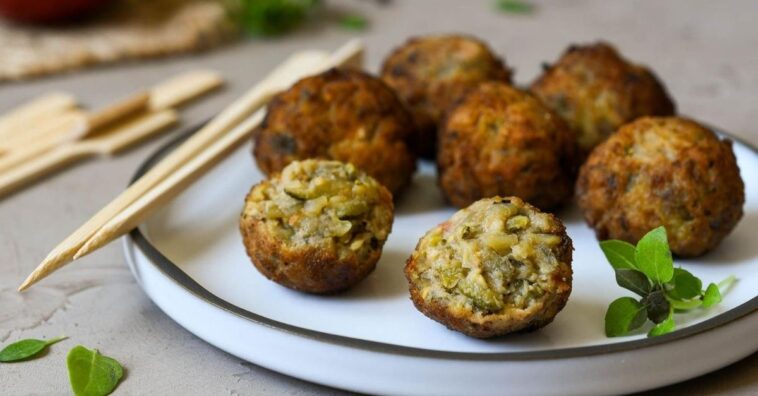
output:
[{"label": "whole golden brown fritter in the middle, directly behind the front cut-open one", "polygon": [[571,130],[537,98],[505,83],[471,91],[448,113],[439,144],[440,186],[457,207],[515,195],[547,210],[571,198]]}]

